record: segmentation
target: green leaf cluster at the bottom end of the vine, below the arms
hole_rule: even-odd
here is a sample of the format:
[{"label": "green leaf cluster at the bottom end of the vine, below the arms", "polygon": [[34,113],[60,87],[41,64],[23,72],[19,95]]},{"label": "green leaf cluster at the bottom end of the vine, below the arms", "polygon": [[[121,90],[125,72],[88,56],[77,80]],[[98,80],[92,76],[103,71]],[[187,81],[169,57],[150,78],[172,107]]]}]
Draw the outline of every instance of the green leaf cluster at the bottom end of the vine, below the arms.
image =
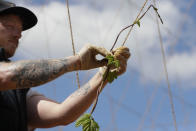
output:
[{"label": "green leaf cluster at the bottom end of the vine, below the arms", "polygon": [[82,126],[82,131],[99,131],[99,125],[91,114],[82,115],[75,124],[76,127]]}]

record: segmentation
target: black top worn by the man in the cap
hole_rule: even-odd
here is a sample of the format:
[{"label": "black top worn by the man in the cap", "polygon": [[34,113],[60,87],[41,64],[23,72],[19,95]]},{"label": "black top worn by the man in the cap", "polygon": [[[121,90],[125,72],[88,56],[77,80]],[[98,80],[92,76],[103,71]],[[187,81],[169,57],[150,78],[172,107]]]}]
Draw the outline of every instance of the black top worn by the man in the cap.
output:
[{"label": "black top worn by the man in the cap", "polygon": [[[0,61],[9,61],[5,58],[4,54],[4,49],[0,48]],[[0,131],[28,130],[26,107],[26,95],[28,90],[29,89],[16,89],[0,91]]]}]

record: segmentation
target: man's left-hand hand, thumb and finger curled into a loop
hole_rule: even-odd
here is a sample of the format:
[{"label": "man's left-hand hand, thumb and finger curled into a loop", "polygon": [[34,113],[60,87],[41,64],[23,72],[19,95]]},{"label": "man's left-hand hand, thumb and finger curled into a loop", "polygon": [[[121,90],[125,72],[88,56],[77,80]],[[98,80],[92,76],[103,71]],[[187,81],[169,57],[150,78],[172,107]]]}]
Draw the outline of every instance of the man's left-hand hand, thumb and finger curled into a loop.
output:
[{"label": "man's left-hand hand, thumb and finger curled into a loop", "polygon": [[80,52],[78,53],[81,62],[80,70],[89,70],[97,67],[101,67],[107,64],[107,60],[97,60],[96,55],[106,56],[111,54],[105,48],[97,47],[93,45],[86,45],[84,46]]}]

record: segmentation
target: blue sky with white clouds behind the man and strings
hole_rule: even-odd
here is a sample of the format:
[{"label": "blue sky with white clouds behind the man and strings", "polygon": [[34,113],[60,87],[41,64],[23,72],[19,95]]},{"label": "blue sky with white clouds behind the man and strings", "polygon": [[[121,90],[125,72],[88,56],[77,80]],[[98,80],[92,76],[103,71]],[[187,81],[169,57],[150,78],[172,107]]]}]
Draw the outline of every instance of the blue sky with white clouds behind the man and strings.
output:
[{"label": "blue sky with white clouds behind the man and strings", "polygon": [[[60,58],[72,55],[65,1],[17,1],[32,9],[39,23],[23,33],[13,60]],[[85,43],[110,49],[120,29],[135,19],[144,0],[70,0],[76,51]],[[169,81],[179,131],[196,130],[196,2],[160,0],[159,13]],[[120,38],[117,47],[125,37]],[[150,11],[134,28],[126,45],[132,56],[127,72],[108,84],[93,114],[101,131],[173,131],[174,124],[164,75],[155,15]],[[79,72],[81,84],[96,72]],[[75,72],[36,87],[45,96],[62,102],[77,89]],[[89,112],[89,111],[87,111]],[[80,131],[74,123],[37,131]]]}]

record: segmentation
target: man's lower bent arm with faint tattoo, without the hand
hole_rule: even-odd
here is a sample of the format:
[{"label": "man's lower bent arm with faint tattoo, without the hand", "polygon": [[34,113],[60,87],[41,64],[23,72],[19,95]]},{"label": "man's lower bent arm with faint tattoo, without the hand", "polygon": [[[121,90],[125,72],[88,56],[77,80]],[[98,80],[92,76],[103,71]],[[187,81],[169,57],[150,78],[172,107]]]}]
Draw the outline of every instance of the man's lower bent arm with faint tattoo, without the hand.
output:
[{"label": "man's lower bent arm with faint tattoo, without the hand", "polygon": [[32,97],[27,103],[29,126],[50,128],[75,121],[92,104],[101,81],[102,74],[97,73],[87,84],[76,90],[62,103],[44,96]]}]

